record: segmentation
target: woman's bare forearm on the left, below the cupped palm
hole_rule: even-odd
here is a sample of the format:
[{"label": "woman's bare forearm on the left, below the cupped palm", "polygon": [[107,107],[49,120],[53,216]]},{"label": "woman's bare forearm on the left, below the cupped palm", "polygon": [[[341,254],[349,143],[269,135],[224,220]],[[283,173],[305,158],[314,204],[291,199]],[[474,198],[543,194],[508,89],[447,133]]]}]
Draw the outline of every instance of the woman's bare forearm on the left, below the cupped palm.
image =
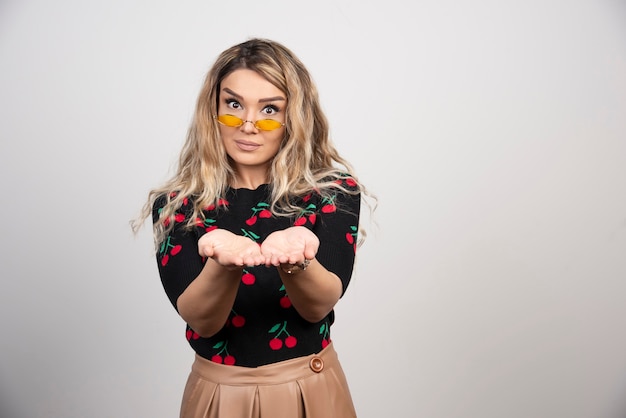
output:
[{"label": "woman's bare forearm on the left, below the cupped palm", "polygon": [[196,279],[178,297],[180,316],[202,337],[217,333],[228,319],[242,269],[226,269],[209,258]]}]

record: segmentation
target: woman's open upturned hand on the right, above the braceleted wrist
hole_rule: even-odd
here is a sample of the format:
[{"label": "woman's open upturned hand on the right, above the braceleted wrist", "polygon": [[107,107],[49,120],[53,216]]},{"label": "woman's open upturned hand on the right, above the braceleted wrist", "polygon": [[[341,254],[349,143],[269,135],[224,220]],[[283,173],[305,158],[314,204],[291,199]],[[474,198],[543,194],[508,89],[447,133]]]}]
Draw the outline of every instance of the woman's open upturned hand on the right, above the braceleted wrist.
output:
[{"label": "woman's open upturned hand on the right, above the braceleted wrist", "polygon": [[305,259],[313,259],[319,245],[319,239],[309,229],[293,226],[272,232],[261,244],[261,253],[266,266],[300,264]]}]

